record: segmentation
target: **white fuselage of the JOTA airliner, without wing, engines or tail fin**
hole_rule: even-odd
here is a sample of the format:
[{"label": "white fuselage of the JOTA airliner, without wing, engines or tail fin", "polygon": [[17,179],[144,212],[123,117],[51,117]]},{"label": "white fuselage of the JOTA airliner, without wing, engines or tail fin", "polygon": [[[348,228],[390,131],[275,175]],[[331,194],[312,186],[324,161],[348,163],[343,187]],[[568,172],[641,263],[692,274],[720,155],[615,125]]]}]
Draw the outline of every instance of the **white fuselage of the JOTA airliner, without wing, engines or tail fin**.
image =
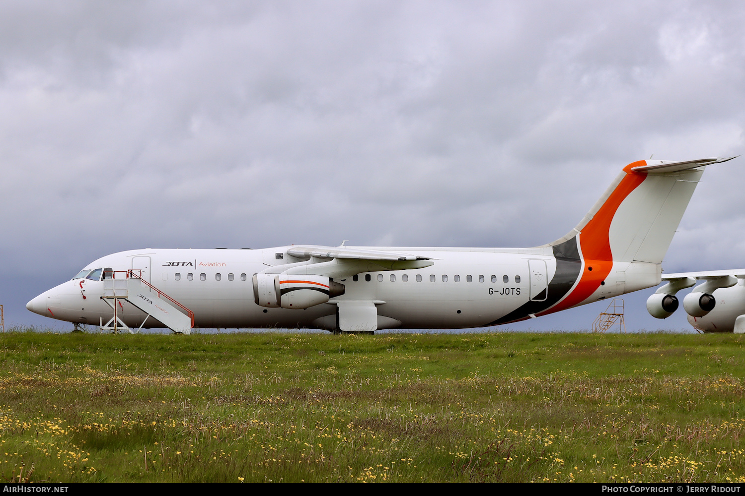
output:
[{"label": "white fuselage of the JOTA airliner, without wing, engines or tail fin", "polygon": [[[562,267],[571,267],[557,274],[557,258],[551,247],[395,248],[428,257],[433,265],[414,270],[361,272],[355,277],[346,277],[338,280],[344,285],[343,295],[308,309],[267,309],[257,305],[253,274],[272,265],[291,263],[293,260],[288,260],[291,257],[286,254],[288,248],[291,247],[124,251],[95,260],[86,268],[142,271],[144,280],[194,312],[196,328],[333,329],[337,318],[335,303],[343,300],[373,301],[378,312],[378,329],[488,326],[563,309],[562,300],[576,288],[580,279],[586,281],[594,274],[600,275],[597,270],[595,273],[592,269],[587,271],[586,265],[591,265],[592,261],[581,258],[562,262],[565,264]],[[284,260],[276,258],[283,253]],[[545,274],[539,274],[540,271]],[[656,264],[614,263],[612,270],[603,274],[606,279],[602,286],[596,281],[597,289],[568,306],[659,283],[659,265]],[[633,280],[628,279],[632,274]],[[28,303],[28,309],[62,321],[99,325],[113,315],[111,307],[101,299],[103,284],[103,280],[74,279],[40,294]],[[540,292],[541,284],[544,291],[535,294]],[[119,305],[118,317],[127,326],[136,327],[144,321],[145,314],[136,307],[126,301],[120,301]],[[145,327],[150,326],[161,324],[151,319],[145,323]]]}]

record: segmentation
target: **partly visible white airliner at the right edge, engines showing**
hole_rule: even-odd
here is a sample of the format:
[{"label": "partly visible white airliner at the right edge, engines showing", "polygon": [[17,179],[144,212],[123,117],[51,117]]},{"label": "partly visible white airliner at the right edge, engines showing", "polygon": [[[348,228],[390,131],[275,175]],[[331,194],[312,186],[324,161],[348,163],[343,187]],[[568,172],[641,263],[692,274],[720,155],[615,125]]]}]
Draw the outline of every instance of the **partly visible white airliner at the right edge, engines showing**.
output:
[{"label": "partly visible white airliner at the right edge, engines showing", "polygon": [[676,292],[704,280],[683,298],[691,326],[703,332],[745,333],[745,268],[665,274],[662,280],[668,283],[647,299],[653,317],[673,315],[679,305]]}]

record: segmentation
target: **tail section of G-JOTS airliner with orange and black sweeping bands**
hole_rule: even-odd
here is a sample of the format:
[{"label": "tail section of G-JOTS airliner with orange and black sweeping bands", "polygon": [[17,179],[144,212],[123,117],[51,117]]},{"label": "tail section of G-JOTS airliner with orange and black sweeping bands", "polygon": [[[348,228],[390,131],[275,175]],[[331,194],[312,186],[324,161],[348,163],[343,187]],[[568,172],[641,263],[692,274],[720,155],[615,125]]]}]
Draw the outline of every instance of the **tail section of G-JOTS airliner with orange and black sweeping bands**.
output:
[{"label": "tail section of G-JOTS airliner with orange and black sweeping bands", "polygon": [[704,167],[731,160],[642,160],[624,167],[576,228],[551,248],[556,269],[545,300],[492,324],[546,315],[659,284],[668,251]]}]

